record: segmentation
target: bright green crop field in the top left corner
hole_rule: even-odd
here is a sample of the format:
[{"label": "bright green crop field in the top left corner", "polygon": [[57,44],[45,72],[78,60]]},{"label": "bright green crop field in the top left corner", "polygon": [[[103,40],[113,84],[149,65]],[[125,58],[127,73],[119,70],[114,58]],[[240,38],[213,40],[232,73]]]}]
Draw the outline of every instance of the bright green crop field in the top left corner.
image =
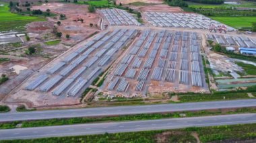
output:
[{"label": "bright green crop field in the top left corner", "polygon": [[44,21],[42,17],[18,15],[9,11],[8,3],[0,2],[0,32],[8,30],[24,30],[24,26],[32,21]]}]

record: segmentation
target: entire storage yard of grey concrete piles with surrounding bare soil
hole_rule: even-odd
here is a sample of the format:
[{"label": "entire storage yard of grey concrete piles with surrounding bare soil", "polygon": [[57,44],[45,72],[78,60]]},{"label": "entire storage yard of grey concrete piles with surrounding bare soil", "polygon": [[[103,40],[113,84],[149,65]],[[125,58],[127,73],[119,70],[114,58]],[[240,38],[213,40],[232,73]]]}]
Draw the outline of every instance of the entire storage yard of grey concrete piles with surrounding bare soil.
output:
[{"label": "entire storage yard of grey concrete piles with surrounding bare soil", "polygon": [[[70,40],[63,40],[62,44],[66,43],[66,47],[71,44],[53,60],[34,68],[4,98],[5,103],[55,107],[79,105],[89,95],[94,99],[102,93],[125,98],[148,98],[163,93],[210,93],[211,88],[222,89],[217,86],[223,81],[209,78],[204,59],[210,62],[214,72],[228,70],[234,78],[237,78],[237,71],[243,69],[226,56],[212,52],[207,40],[234,46],[236,50],[256,48],[253,36],[240,36],[236,29],[209,17],[183,12],[176,7],[170,7],[170,11],[150,7],[137,7],[143,19],[140,23],[134,13],[123,9],[104,8],[96,13],[84,10],[77,14],[87,6],[77,9],[73,4],[35,5],[33,9],[51,8],[55,13],[66,15],[67,19],[61,21],[58,30],[71,35]],[[40,36],[44,32],[38,26],[51,29],[51,21],[55,19],[30,23],[27,28]],[[104,79],[98,87],[94,84],[97,78]],[[96,91],[87,95],[84,94],[87,89]]]}]

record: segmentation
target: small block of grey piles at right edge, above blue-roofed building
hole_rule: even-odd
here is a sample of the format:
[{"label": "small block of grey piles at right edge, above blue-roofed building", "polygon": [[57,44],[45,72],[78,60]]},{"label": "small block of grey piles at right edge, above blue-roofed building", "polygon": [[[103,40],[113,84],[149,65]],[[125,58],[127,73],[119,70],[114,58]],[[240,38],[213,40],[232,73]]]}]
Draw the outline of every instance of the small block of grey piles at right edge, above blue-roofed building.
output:
[{"label": "small block of grey piles at right edge, above blue-roofed building", "polygon": [[256,38],[247,38],[245,36],[222,36],[218,34],[205,34],[205,36],[207,40],[213,40],[224,46],[256,48]]}]

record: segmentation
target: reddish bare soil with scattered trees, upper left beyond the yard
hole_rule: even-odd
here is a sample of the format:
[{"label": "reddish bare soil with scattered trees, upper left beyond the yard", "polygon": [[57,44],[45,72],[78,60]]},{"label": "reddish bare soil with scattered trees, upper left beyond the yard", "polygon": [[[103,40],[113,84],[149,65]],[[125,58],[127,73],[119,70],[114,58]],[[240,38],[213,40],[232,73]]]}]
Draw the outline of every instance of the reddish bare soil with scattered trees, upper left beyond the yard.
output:
[{"label": "reddish bare soil with scattered trees, upper left beyond the yard", "polygon": [[[35,5],[32,9],[41,9],[42,11],[50,9],[51,12],[56,13],[57,16],[49,17],[48,21],[30,23],[27,26],[28,32],[49,32],[49,30],[53,30],[53,26],[57,26],[57,21],[61,21],[61,26],[57,26],[57,30],[58,32],[62,32],[62,40],[70,44],[84,40],[91,34],[94,34],[94,32],[100,30],[100,26],[98,26],[101,19],[100,15],[98,15],[98,13],[89,13],[88,5],[75,5],[73,3],[44,3],[42,5]],[[66,15],[67,19],[59,20],[60,14]],[[84,22],[77,21],[77,19],[84,19]],[[90,27],[90,23],[93,24],[92,27]],[[66,34],[70,35],[69,40],[65,38]]]}]

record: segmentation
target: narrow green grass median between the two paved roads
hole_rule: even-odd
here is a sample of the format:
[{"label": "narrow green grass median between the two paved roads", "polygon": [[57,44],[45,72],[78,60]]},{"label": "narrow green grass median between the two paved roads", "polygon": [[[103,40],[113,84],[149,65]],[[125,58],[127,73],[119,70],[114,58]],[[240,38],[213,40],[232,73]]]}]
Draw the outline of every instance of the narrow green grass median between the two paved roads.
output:
[{"label": "narrow green grass median between the two paved roads", "polygon": [[[226,109],[225,109],[226,110]],[[230,109],[229,111],[216,110],[202,110],[202,111],[180,111],[173,113],[143,113],[138,115],[119,115],[106,117],[73,117],[69,119],[51,119],[51,120],[35,120],[22,122],[8,122],[0,124],[1,129],[16,128],[21,124],[21,128],[42,127],[42,126],[61,126],[71,124],[88,124],[94,122],[121,122],[121,121],[135,121],[135,120],[159,120],[163,118],[177,118],[177,117],[199,117],[205,115],[226,115],[234,113],[256,113],[255,108],[240,108]]]}]

